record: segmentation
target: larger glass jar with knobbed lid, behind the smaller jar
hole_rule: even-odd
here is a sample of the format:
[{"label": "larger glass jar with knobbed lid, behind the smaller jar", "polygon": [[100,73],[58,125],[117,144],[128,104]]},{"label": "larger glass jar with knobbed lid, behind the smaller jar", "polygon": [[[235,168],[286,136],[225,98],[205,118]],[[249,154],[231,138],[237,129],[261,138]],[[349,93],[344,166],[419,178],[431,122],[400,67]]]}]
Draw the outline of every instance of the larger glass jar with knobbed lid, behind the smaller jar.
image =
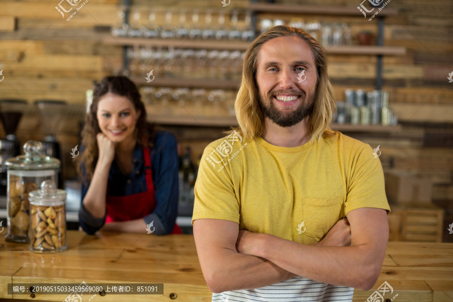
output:
[{"label": "larger glass jar with knobbed lid, behind the smaller jar", "polygon": [[57,183],[60,161],[41,155],[41,143],[29,140],[24,144],[25,155],[8,159],[7,167],[7,241],[28,243],[30,203],[28,195],[45,180]]}]

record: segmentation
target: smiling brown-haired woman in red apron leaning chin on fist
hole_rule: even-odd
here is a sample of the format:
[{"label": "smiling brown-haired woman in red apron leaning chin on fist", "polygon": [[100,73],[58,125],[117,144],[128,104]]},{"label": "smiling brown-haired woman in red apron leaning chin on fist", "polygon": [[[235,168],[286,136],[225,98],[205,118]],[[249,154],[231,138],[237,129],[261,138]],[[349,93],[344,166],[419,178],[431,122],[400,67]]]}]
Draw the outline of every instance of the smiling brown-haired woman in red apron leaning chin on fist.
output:
[{"label": "smiling brown-haired woman in red apron leaning chin on fist", "polygon": [[105,77],[93,92],[82,131],[79,221],[98,230],[181,234],[175,136],[147,127],[146,111],[126,77]]}]

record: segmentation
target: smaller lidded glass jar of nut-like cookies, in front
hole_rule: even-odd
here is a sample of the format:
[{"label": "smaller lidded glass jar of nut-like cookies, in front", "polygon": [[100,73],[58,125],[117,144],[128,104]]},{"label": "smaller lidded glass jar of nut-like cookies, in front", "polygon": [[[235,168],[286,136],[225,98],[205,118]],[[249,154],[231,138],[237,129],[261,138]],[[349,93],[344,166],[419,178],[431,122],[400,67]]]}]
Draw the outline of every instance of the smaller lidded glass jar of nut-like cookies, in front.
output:
[{"label": "smaller lidded glass jar of nut-like cookies, in front", "polygon": [[56,189],[51,180],[43,181],[41,188],[31,191],[30,246],[37,253],[55,253],[67,249],[66,244],[66,191]]}]

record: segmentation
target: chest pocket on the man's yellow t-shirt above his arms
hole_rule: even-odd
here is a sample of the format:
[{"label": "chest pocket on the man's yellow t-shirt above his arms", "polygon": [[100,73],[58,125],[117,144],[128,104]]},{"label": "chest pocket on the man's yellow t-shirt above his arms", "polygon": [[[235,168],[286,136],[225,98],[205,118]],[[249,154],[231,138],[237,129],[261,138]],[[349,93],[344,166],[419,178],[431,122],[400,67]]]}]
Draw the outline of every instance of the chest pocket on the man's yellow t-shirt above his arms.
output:
[{"label": "chest pocket on the man's yellow t-shirt above his arms", "polygon": [[303,234],[322,238],[343,218],[343,203],[340,197],[331,199],[303,199],[303,221],[305,232]]}]

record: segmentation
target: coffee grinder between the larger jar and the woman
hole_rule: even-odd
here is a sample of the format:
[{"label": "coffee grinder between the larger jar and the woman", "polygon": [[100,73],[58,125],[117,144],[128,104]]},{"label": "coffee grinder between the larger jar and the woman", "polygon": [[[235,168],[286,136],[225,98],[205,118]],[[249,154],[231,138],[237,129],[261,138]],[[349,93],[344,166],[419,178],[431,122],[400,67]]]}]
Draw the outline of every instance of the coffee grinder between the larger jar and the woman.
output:
[{"label": "coffee grinder between the larger jar and the woman", "polygon": [[[42,129],[44,130],[44,138],[40,141],[42,145],[42,154],[57,158],[63,163],[60,153],[60,143],[55,134],[58,124],[66,115],[67,104],[60,100],[36,100],[35,107],[38,110],[41,120]],[[63,179],[60,167],[58,172],[58,187],[63,187]]]}]

